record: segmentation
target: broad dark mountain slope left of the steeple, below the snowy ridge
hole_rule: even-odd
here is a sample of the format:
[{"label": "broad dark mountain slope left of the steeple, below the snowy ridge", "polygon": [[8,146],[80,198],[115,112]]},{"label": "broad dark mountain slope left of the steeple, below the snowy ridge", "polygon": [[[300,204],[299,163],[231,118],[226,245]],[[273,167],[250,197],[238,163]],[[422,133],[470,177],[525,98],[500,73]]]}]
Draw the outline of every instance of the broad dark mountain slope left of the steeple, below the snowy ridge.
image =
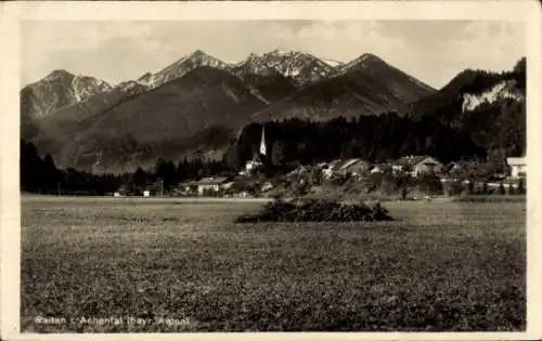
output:
[{"label": "broad dark mountain slope left of the steeple, below the snowy ridge", "polygon": [[63,167],[132,170],[157,157],[216,153],[263,107],[238,78],[199,67],[79,122],[75,139],[50,145],[63,145],[53,150]]}]

